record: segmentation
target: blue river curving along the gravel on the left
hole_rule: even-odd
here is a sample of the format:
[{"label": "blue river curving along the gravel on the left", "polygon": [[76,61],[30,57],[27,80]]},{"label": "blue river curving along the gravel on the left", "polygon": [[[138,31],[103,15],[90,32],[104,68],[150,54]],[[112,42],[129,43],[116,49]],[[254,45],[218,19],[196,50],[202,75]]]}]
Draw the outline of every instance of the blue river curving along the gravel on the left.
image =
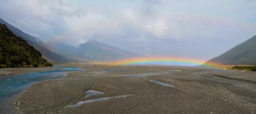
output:
[{"label": "blue river curving along the gravel on the left", "polygon": [[[19,74],[15,76],[0,77],[0,109],[15,95],[26,90],[32,84],[50,79],[59,79],[66,76],[67,71],[82,71],[80,68],[63,68],[57,70]],[[1,111],[0,111],[1,112]]]}]

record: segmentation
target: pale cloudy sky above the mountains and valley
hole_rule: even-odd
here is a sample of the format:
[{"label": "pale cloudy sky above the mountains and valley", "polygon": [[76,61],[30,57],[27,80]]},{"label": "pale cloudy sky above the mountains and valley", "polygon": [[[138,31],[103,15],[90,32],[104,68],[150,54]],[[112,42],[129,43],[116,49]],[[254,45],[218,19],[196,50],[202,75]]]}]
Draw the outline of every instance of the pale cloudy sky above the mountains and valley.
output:
[{"label": "pale cloudy sky above the mountains and valley", "polygon": [[256,35],[256,0],[0,0],[0,18],[45,42],[207,60]]}]

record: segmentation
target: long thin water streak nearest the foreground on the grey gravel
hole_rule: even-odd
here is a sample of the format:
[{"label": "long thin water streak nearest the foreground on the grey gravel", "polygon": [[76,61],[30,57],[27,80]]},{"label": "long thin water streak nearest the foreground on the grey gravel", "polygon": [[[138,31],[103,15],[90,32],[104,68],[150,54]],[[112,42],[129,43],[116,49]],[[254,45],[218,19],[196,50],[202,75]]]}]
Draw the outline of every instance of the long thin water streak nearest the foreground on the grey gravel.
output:
[{"label": "long thin water streak nearest the foreground on the grey gravel", "polygon": [[103,98],[96,98],[96,99],[87,100],[87,101],[79,101],[75,105],[68,105],[66,107],[78,107],[78,106],[83,105],[85,103],[93,103],[93,102],[97,102],[97,101],[105,101],[105,100],[109,100],[109,99],[112,99],[112,98],[122,98],[122,97],[128,97],[128,96],[131,96],[131,95],[120,95],[120,96],[117,96],[117,97],[103,97]]}]

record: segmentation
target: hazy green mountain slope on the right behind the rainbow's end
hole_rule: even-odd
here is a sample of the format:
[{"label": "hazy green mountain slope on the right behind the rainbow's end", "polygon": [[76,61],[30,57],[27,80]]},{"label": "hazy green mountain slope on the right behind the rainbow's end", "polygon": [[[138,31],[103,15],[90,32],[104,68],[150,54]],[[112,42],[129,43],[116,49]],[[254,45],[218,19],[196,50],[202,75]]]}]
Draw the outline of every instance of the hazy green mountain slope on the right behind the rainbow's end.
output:
[{"label": "hazy green mountain slope on the right behind the rainbow's end", "polygon": [[207,61],[204,65],[211,63],[223,65],[256,65],[256,35],[233,47],[219,57]]}]

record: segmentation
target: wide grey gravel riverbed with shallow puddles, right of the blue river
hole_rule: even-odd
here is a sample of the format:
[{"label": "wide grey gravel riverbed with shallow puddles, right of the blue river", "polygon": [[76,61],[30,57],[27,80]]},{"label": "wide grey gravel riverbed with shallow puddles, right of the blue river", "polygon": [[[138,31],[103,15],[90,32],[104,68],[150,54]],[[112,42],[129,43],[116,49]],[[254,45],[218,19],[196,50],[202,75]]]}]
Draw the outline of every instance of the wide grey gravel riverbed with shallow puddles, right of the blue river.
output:
[{"label": "wide grey gravel riverbed with shallow puddles, right of the blue river", "polygon": [[[63,79],[31,86],[13,101],[15,111],[66,114],[256,113],[256,84],[213,75],[239,73],[254,80],[256,72],[204,67],[76,67],[85,71],[69,72]],[[88,90],[102,94],[85,97]],[[75,105],[79,102],[83,104]]]}]

